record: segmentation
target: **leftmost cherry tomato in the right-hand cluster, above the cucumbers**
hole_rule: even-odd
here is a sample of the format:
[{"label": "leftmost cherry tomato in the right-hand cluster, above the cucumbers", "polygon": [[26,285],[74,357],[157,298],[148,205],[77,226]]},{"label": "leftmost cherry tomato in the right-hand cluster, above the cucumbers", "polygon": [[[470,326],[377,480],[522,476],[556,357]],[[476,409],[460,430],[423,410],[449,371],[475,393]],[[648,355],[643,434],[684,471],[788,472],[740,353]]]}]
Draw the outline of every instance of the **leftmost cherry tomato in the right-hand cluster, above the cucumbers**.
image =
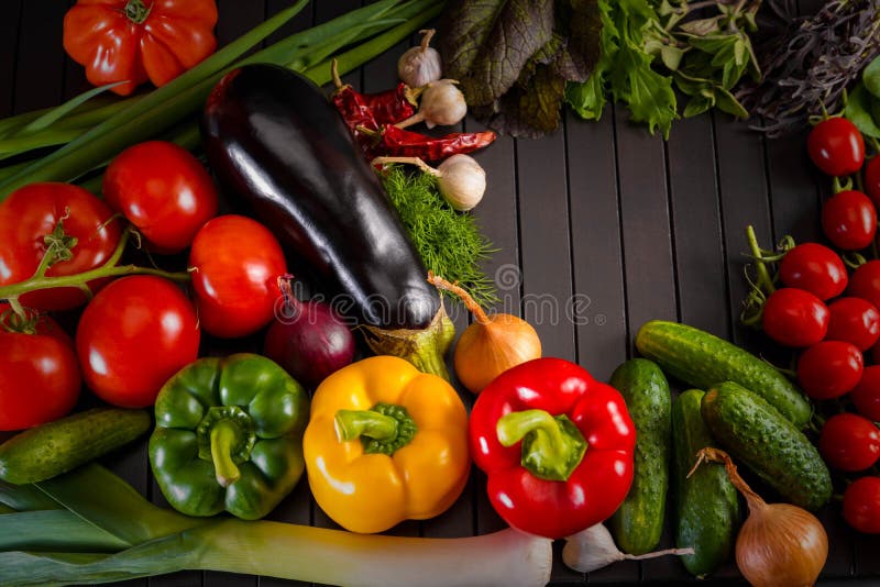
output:
[{"label": "leftmost cherry tomato in the right-hand cluster, above the cucumbers", "polygon": [[773,291],[763,304],[761,326],[784,346],[811,346],[825,337],[828,308],[803,289],[785,287]]}]

